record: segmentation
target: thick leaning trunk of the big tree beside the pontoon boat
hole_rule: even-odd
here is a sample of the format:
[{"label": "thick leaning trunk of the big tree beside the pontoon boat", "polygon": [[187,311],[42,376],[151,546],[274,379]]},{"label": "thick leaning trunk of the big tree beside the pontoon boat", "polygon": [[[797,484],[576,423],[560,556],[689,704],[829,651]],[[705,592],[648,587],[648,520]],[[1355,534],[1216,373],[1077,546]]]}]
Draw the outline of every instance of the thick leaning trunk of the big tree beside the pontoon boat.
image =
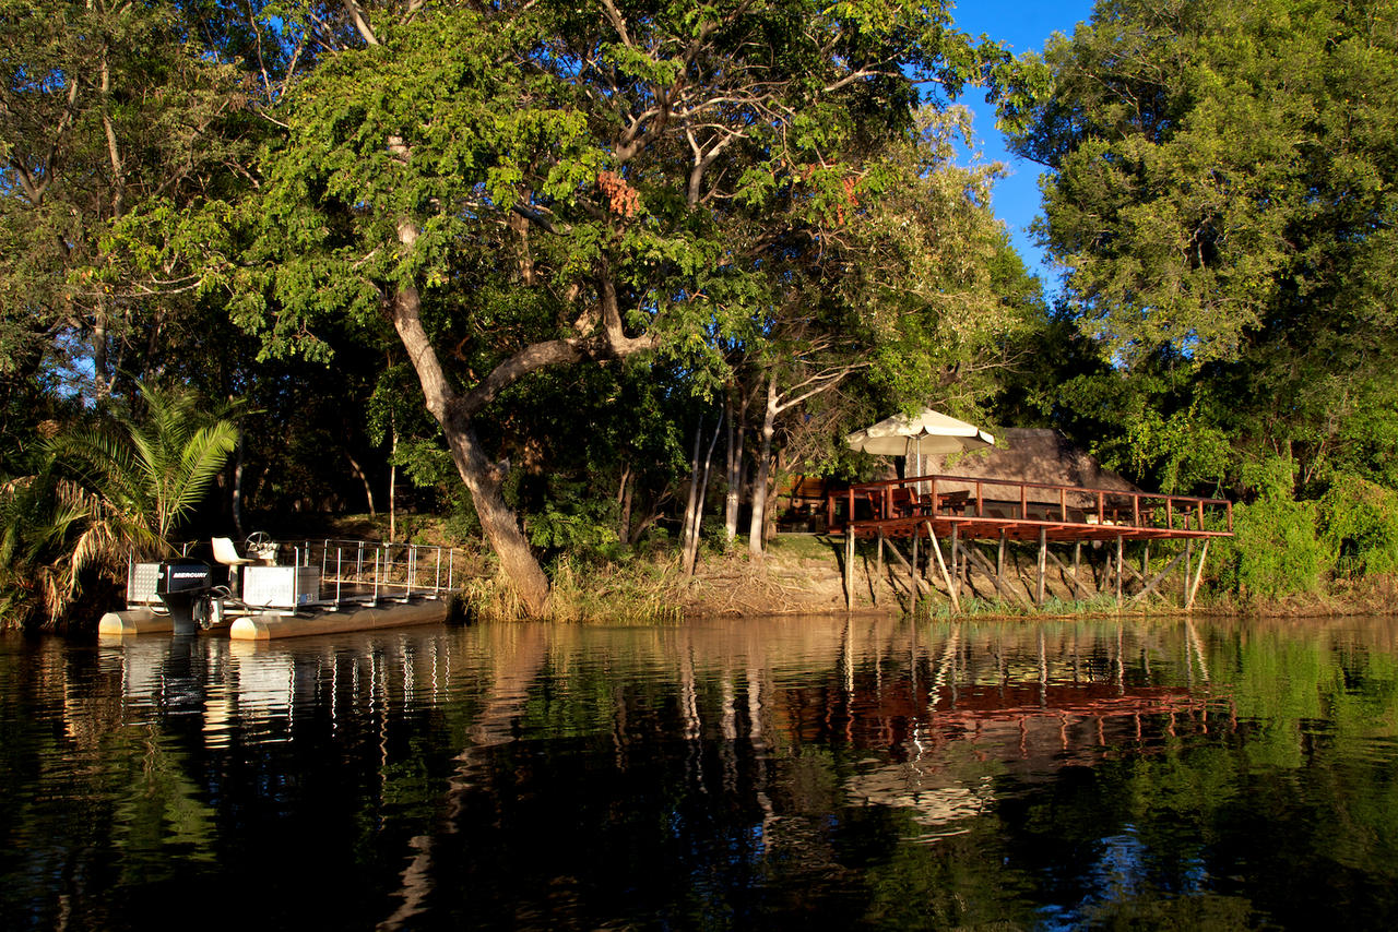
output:
[{"label": "thick leaning trunk of the big tree beside the pontoon boat", "polygon": [[[410,224],[400,225],[398,239],[411,247],[417,240],[417,228]],[[422,298],[418,289],[412,285],[400,286],[393,296],[393,327],[398,331],[408,359],[412,361],[418,381],[422,383],[428,411],[442,425],[447,447],[452,450],[452,461],[456,463],[461,481],[471,492],[481,528],[500,560],[505,577],[514,587],[524,611],[534,618],[542,616],[548,611],[548,577],[534,559],[514,513],[505,503],[500,490],[503,475],[481,449],[471,418],[460,409],[456,390],[447,380],[422,327],[421,312]]]}]

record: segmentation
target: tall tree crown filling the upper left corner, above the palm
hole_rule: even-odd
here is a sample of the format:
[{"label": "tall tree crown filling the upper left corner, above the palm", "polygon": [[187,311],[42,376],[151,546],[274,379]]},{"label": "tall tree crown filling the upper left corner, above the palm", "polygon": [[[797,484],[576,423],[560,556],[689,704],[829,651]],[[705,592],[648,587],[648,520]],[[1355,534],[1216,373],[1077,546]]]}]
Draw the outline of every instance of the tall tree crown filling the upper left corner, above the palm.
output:
[{"label": "tall tree crown filling the upper left corner, above the palm", "polygon": [[246,102],[171,3],[0,0],[0,380],[102,394],[197,330],[186,259],[222,238]]}]

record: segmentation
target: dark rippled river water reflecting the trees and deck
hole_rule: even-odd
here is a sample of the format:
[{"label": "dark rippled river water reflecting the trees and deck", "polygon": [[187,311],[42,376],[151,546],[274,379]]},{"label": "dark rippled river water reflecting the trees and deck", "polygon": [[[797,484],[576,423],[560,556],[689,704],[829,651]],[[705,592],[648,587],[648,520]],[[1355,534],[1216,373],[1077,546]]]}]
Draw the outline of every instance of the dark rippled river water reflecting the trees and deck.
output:
[{"label": "dark rippled river water reflecting the trees and deck", "polygon": [[1398,928],[1398,622],[0,639],[0,929]]}]

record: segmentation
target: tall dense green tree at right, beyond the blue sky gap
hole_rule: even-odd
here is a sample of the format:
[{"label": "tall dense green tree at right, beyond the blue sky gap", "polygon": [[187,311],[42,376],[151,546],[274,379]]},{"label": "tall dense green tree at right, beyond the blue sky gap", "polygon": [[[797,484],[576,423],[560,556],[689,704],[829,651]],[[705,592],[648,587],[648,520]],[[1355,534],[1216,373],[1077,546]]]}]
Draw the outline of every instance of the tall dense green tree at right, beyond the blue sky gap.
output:
[{"label": "tall dense green tree at right, beyond the blue sky gap", "polygon": [[1198,456],[1223,437],[1303,478],[1373,460],[1353,425],[1398,428],[1398,3],[1103,0],[1044,60],[1016,148],[1050,169],[1043,242],[1107,379],[1145,376],[1109,390],[1138,463],[1236,476]]}]

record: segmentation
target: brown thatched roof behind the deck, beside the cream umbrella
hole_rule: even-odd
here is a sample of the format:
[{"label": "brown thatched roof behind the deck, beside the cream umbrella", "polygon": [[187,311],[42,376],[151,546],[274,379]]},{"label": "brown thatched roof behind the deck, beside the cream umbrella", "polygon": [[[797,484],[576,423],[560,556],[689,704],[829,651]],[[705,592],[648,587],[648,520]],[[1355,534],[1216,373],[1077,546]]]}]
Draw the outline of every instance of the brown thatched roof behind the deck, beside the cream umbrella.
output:
[{"label": "brown thatched roof behind the deck, beside the cream umbrella", "polygon": [[[1011,479],[1014,482],[1044,482],[1072,485],[1111,492],[1141,492],[1135,485],[1111,469],[1102,468],[1096,457],[1081,450],[1057,430],[1008,428],[995,432],[997,444],[991,450],[924,457],[923,471],[928,475],[965,475],[974,479]],[[1004,444],[1004,446],[1001,446]],[[938,483],[941,492],[969,489],[960,483]],[[986,489],[987,497],[1001,497]],[[1030,500],[1057,502],[1051,490],[1030,490]]]}]

